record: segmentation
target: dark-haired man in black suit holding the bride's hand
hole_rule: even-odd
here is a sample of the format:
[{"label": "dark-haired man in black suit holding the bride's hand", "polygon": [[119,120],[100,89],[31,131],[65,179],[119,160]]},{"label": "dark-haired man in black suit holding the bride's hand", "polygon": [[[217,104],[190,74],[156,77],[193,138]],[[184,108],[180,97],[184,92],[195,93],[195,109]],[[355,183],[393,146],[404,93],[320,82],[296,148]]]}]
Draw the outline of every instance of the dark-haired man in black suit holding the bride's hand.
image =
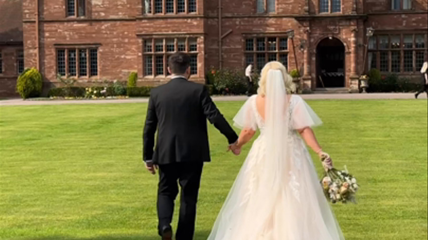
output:
[{"label": "dark-haired man in black suit holding the bride's hand", "polygon": [[143,160],[152,174],[159,169],[159,234],[162,239],[172,239],[174,200],[180,184],[176,239],[191,240],[203,162],[210,161],[206,119],[226,136],[229,149],[239,154],[240,148],[236,145],[238,136],[204,85],[188,81],[189,55],[182,52],[171,55],[168,70],[171,81],[151,91],[143,133]]}]

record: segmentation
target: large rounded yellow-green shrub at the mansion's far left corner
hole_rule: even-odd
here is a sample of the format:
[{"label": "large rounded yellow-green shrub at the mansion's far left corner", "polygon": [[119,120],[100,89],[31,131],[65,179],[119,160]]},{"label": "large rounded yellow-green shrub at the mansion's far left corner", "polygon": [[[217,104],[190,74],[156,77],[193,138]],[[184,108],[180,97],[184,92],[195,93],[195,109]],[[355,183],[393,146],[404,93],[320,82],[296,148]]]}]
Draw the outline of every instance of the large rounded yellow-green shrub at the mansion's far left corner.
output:
[{"label": "large rounded yellow-green shrub at the mansion's far left corner", "polygon": [[37,97],[42,94],[42,74],[36,68],[27,68],[17,80],[17,92],[22,98]]}]

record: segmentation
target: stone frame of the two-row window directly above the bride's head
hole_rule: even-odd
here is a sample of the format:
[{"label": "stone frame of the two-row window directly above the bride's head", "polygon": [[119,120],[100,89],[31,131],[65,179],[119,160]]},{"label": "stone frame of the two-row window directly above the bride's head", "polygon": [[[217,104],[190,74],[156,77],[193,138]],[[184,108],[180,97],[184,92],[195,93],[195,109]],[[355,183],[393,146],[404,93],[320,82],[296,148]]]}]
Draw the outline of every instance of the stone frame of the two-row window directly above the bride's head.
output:
[{"label": "stone frame of the two-row window directly above the bride's head", "polygon": [[[257,39],[264,38],[264,50],[258,50],[257,49]],[[275,42],[275,49],[269,50],[269,45],[272,46],[272,44],[269,44],[269,38],[276,38]],[[247,49],[247,40],[252,39],[253,41],[253,47],[252,50]],[[280,40],[286,39],[287,40],[287,49],[281,49],[280,48]],[[243,35],[243,53],[244,53],[244,62],[243,66],[246,67],[248,64],[252,64],[254,69],[261,71],[261,66],[257,65],[257,56],[260,56],[264,54],[264,64],[269,62],[270,59],[269,56],[272,56],[273,54],[276,55],[277,61],[284,64],[283,61],[281,61],[281,56],[286,55],[286,61],[287,64],[284,64],[286,69],[289,69],[289,63],[290,63],[290,39],[287,36],[287,34],[244,34]],[[248,59],[252,58],[252,61],[248,61]]]}]

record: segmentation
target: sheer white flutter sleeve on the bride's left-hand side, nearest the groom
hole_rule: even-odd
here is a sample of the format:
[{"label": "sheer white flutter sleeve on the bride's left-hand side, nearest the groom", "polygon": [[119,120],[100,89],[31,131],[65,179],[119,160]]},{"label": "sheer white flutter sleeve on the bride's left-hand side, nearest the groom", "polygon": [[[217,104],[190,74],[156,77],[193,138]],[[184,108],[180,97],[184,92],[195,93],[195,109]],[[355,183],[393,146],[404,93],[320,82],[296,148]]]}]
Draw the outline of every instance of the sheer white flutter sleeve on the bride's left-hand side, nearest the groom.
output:
[{"label": "sheer white flutter sleeve on the bride's left-hand side, nearest the groom", "polygon": [[235,117],[233,117],[233,125],[243,129],[243,128],[251,128],[253,130],[257,130],[257,121],[255,118],[254,112],[254,104],[255,104],[255,95],[248,98],[248,100],[244,103],[241,109],[236,113]]}]

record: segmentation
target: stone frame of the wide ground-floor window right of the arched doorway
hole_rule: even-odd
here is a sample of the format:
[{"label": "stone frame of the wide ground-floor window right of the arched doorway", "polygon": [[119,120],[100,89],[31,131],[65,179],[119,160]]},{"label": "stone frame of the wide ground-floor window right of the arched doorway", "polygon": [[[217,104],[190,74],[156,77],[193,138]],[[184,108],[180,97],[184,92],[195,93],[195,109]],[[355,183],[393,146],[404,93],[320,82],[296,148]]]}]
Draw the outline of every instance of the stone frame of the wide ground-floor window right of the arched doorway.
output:
[{"label": "stone frame of the wide ground-floor window right of the arched doorway", "polygon": [[[404,36],[407,35],[412,35],[412,47],[405,47],[405,42],[404,42]],[[423,35],[424,36],[424,47],[416,47],[416,35]],[[380,42],[379,42],[379,38],[381,36],[387,36],[388,39],[388,47],[386,48],[381,48],[380,47]],[[399,46],[394,45],[392,43],[392,37],[393,36],[399,36],[400,38],[400,42],[399,42]],[[368,59],[367,59],[367,67],[368,69],[371,69],[373,65],[376,66],[377,69],[381,70],[382,73],[389,73],[389,72],[394,72],[397,74],[414,74],[419,72],[420,69],[417,69],[418,66],[416,66],[416,58],[417,58],[417,53],[419,52],[423,52],[424,54],[424,61],[427,60],[428,58],[428,34],[426,34],[425,32],[381,32],[381,33],[377,33],[374,36],[372,36],[372,39],[375,39],[375,48],[368,48]],[[406,69],[406,65],[405,65],[405,51],[412,51],[412,71],[407,71]],[[385,52],[387,53],[387,69],[386,70],[382,70],[381,69],[381,57],[380,54],[383,53],[385,54]],[[392,52],[399,52],[399,56],[400,56],[400,62],[399,62],[399,71],[393,71],[393,59],[392,59]],[[395,53],[394,53],[395,54]],[[374,56],[375,59],[375,63],[373,64],[372,61],[369,60],[370,55]]]}]

